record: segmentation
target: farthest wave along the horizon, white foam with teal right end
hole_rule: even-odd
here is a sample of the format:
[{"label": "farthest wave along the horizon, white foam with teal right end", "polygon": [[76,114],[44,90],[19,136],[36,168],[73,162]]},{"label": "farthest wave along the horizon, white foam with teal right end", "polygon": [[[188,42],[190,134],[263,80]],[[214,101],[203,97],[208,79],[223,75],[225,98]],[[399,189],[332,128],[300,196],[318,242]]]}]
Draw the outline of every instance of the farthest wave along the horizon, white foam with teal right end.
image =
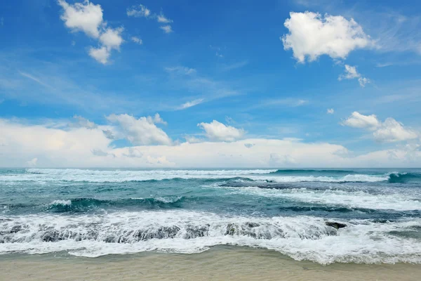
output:
[{"label": "farthest wave along the horizon, white foam with teal right end", "polygon": [[421,181],[417,173],[357,174],[347,170],[243,169],[243,170],[91,170],[26,169],[23,174],[1,174],[0,181],[125,183],[154,181],[262,181],[275,183],[407,183]]}]

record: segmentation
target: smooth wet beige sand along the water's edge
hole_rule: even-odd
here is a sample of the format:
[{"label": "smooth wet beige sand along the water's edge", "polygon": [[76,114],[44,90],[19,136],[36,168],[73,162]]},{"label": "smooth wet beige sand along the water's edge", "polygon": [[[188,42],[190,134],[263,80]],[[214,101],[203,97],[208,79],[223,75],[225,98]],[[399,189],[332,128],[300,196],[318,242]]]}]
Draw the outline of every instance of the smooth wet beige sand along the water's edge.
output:
[{"label": "smooth wet beige sand along the water's edge", "polygon": [[0,280],[420,280],[421,265],[294,261],[276,251],[214,247],[201,254],[142,253],[96,259],[0,256]]}]

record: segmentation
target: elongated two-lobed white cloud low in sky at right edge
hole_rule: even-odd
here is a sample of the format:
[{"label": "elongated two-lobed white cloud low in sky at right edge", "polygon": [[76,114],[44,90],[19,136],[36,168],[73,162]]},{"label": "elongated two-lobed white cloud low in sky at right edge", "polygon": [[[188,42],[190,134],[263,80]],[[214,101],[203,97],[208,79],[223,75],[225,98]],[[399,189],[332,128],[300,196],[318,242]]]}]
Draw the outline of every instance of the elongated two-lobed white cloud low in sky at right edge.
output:
[{"label": "elongated two-lobed white cloud low in sky at right edge", "polygon": [[405,128],[403,124],[390,117],[385,122],[380,122],[375,115],[361,115],[359,112],[352,112],[352,115],[342,124],[373,131],[373,138],[379,143],[408,141],[418,137],[418,133]]}]

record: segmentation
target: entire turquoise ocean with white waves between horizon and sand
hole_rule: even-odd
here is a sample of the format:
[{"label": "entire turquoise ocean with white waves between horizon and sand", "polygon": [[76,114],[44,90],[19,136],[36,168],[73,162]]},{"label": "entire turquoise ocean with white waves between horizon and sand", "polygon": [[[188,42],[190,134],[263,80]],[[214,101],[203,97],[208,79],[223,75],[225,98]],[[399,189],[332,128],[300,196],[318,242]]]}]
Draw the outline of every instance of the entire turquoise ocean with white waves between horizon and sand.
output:
[{"label": "entire turquoise ocean with white waves between horizon and sand", "polygon": [[421,263],[421,169],[0,169],[1,255],[218,245]]}]

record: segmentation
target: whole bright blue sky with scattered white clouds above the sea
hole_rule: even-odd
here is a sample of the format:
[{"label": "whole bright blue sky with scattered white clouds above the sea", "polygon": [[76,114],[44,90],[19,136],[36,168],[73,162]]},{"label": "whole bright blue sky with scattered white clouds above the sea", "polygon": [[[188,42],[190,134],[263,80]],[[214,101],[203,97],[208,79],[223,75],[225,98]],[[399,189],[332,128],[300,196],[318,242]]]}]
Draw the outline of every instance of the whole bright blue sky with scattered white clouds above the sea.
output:
[{"label": "whole bright blue sky with scattered white clouds above the sea", "polygon": [[0,3],[0,166],[420,167],[419,1]]}]

